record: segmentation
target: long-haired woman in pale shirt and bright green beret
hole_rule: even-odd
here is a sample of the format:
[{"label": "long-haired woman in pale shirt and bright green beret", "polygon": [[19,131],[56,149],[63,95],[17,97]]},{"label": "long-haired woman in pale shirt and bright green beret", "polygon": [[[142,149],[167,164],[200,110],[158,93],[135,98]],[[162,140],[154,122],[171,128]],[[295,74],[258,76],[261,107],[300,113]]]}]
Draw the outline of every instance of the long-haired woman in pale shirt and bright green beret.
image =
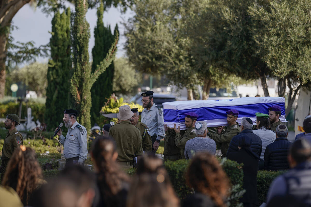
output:
[{"label": "long-haired woman in pale shirt and bright green beret", "polygon": [[266,148],[269,144],[275,141],[276,134],[274,131],[271,131],[269,115],[267,114],[256,113],[256,125],[257,130],[253,130],[253,133],[260,137],[262,142],[262,152],[260,155],[260,159],[262,160],[260,160],[258,163],[259,170],[262,170],[264,168],[263,159]]}]

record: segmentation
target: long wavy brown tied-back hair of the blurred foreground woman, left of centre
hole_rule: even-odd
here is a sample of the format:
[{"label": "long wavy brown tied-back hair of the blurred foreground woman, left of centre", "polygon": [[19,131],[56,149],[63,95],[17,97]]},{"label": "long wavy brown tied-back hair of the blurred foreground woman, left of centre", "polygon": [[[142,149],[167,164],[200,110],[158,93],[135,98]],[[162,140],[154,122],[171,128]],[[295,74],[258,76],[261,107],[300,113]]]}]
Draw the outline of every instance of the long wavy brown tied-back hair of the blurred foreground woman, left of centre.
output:
[{"label": "long wavy brown tied-back hair of the blurred foreground woman, left of centre", "polygon": [[98,137],[91,150],[92,159],[98,170],[98,185],[107,205],[113,205],[113,197],[123,188],[124,183],[129,182],[128,176],[119,169],[118,164],[112,158],[116,152],[116,144],[110,137]]}]

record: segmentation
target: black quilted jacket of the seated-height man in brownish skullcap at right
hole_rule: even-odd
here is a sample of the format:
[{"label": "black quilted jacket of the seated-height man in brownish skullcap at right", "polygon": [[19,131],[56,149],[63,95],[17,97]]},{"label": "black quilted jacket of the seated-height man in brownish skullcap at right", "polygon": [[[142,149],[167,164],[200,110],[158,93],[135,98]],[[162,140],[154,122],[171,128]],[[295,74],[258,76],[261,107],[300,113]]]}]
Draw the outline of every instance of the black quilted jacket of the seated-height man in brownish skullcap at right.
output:
[{"label": "black quilted jacket of the seated-height man in brownish skullcap at right", "polygon": [[264,169],[273,171],[289,169],[287,155],[291,144],[285,137],[278,137],[269,144],[264,155]]}]

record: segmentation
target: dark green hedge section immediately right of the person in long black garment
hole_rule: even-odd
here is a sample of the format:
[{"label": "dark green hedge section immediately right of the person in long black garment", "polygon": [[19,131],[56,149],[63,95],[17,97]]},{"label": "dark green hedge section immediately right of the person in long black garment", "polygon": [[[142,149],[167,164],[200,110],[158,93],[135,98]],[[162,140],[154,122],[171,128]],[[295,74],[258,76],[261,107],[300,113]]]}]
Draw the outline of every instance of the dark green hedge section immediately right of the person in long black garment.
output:
[{"label": "dark green hedge section immediately right of the person in long black garment", "polygon": [[257,193],[259,204],[266,202],[267,193],[272,181],[286,171],[267,171],[260,170],[257,174]]}]

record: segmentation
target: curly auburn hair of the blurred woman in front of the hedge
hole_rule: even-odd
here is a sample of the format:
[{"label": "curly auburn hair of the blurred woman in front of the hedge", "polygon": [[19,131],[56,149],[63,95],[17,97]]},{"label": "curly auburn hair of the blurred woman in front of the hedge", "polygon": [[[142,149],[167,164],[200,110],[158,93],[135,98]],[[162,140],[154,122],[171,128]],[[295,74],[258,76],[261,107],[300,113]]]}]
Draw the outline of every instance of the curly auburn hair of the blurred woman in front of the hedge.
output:
[{"label": "curly auburn hair of the blurred woman in front of the hedge", "polygon": [[229,179],[216,158],[208,152],[197,153],[186,172],[187,185],[201,192],[216,203],[225,207],[228,196]]}]

